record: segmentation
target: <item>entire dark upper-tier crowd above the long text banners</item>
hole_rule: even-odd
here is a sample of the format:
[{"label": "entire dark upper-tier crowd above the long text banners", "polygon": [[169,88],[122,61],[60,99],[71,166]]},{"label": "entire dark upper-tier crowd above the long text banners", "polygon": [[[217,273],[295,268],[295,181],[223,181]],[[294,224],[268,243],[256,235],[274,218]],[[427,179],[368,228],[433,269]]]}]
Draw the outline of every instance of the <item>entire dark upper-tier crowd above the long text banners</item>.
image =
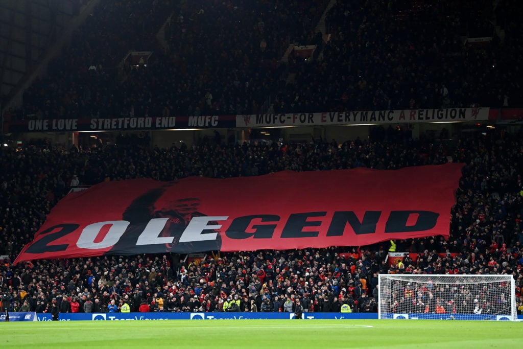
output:
[{"label": "entire dark upper-tier crowd above the long text banners", "polygon": [[[325,0],[102,1],[5,117],[521,106],[522,5],[496,3],[337,2],[324,42]],[[295,42],[315,59],[282,61]],[[130,50],[153,54],[134,69]]]}]

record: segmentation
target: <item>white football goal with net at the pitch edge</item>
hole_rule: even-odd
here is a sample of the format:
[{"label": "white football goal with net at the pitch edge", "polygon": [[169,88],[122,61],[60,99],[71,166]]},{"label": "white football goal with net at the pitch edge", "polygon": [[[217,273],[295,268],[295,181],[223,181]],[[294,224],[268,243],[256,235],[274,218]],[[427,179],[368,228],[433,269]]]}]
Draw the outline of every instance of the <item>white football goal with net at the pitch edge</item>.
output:
[{"label": "white football goal with net at the pitch edge", "polygon": [[379,319],[517,320],[511,275],[379,275]]}]

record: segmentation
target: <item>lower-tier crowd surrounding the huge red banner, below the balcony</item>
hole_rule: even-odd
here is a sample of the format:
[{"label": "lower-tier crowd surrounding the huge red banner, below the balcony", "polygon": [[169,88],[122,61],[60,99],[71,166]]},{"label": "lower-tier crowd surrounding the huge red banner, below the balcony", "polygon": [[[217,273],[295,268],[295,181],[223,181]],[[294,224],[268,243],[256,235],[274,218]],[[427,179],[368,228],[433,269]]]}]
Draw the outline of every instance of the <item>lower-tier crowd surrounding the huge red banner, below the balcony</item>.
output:
[{"label": "lower-tier crowd surrounding the huge red banner, below the balcony", "polygon": [[170,254],[36,260],[16,266],[4,260],[0,283],[13,297],[12,310],[27,301],[39,312],[49,311],[53,302],[61,311],[120,311],[125,302],[131,311],[226,311],[236,309],[231,301],[240,311],[289,311],[296,299],[301,299],[305,311],[339,311],[344,302],[353,311],[376,311],[377,273],[511,274],[520,297],[521,139],[519,133],[498,132],[437,145],[432,140],[404,141],[388,133],[381,141],[343,144],[319,140],[237,145],[210,140],[170,149],[132,142],[82,152],[6,148],[0,158],[6,169],[0,174],[4,198],[0,253],[10,261],[72,186],[127,178],[171,181],[194,175],[222,178],[359,166],[393,170],[449,159],[467,165],[452,209],[450,238],[395,242],[396,251],[418,253],[416,260],[405,256],[390,266],[385,261],[388,242],[330,249],[213,251],[190,263]]}]

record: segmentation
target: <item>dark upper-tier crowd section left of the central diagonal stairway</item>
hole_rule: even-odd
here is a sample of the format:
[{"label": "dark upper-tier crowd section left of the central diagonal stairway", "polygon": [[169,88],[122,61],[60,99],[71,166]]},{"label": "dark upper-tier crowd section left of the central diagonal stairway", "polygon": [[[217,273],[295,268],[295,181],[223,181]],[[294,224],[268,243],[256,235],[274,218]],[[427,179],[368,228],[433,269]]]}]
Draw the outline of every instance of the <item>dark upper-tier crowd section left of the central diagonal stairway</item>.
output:
[{"label": "dark upper-tier crowd section left of the central diagonal stairway", "polygon": [[[101,1],[7,117],[258,111],[283,73],[289,41],[311,37],[324,7],[324,0]],[[124,61],[129,51],[153,54],[136,69]]]}]

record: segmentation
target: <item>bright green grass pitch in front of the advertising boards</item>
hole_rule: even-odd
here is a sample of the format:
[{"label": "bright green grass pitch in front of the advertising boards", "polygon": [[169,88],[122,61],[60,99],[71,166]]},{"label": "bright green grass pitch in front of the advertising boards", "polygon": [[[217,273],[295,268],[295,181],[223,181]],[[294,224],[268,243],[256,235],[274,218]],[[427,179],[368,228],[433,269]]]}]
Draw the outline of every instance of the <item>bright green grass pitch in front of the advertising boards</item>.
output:
[{"label": "bright green grass pitch in front of the advertising boards", "polygon": [[0,322],[0,348],[511,348],[523,322],[144,320]]}]

